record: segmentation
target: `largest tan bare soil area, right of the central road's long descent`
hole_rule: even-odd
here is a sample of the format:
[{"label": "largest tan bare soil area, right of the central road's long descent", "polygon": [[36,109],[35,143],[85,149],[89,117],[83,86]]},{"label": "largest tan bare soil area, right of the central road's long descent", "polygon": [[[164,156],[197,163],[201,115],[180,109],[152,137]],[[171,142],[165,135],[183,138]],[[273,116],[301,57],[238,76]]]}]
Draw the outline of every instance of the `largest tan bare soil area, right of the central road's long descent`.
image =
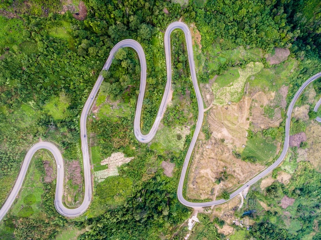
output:
[{"label": "largest tan bare soil area, right of the central road's long descent", "polygon": [[242,151],[246,144],[250,101],[244,97],[238,103],[209,110],[205,124],[210,126],[211,138],[199,139],[195,147],[187,182],[188,198],[214,200],[223,189],[232,191],[265,168],[232,154],[233,149]]}]

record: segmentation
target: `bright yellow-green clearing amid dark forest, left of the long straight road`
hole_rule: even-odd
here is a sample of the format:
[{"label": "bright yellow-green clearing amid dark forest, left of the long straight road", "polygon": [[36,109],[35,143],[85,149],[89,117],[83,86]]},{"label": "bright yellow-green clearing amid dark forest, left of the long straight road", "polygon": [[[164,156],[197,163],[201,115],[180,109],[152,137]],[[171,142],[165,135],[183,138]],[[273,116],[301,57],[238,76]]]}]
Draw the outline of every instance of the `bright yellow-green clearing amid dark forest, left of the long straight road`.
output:
[{"label": "bright yellow-green clearing amid dark forest, left of the long straight road", "polygon": [[55,120],[65,119],[67,117],[67,108],[69,103],[61,101],[59,97],[53,97],[44,106],[44,110],[51,115]]}]

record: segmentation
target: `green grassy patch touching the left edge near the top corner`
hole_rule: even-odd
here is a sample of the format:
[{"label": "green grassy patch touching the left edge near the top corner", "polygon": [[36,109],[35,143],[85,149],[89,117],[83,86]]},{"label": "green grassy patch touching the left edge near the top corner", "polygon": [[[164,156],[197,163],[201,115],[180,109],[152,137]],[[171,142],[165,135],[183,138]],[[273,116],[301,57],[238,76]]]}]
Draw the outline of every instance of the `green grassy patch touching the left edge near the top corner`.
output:
[{"label": "green grassy patch touching the left edge near the top corner", "polygon": [[8,19],[0,15],[0,54],[4,48],[18,46],[24,39],[23,21],[17,18]]}]

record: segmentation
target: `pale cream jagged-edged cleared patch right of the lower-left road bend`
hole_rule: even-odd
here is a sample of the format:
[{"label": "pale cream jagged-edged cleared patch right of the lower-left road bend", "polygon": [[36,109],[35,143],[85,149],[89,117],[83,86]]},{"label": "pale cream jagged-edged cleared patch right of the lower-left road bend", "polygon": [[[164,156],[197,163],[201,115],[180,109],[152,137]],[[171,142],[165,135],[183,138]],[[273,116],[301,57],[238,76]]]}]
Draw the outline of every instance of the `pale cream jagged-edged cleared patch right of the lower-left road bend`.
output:
[{"label": "pale cream jagged-edged cleared patch right of the lower-left road bend", "polygon": [[125,163],[129,163],[132,159],[134,159],[134,157],[126,158],[123,152],[113,153],[109,158],[106,158],[101,162],[101,165],[108,165],[108,168],[95,171],[95,180],[99,183],[110,176],[118,176],[118,167]]}]

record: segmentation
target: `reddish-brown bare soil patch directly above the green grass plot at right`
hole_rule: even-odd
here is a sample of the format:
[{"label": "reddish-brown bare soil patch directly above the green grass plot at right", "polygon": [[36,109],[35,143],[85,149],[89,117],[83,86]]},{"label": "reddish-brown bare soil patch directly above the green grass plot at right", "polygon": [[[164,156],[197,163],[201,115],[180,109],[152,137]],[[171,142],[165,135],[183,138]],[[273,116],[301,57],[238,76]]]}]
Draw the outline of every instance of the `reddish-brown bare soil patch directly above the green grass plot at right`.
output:
[{"label": "reddish-brown bare soil patch directly above the green grass plot at right", "polygon": [[[275,92],[264,93],[260,91],[252,96],[250,121],[253,124],[255,132],[262,129],[267,129],[269,127],[278,127],[282,122],[283,119],[281,117],[281,109],[280,107],[274,108],[274,102],[276,104],[276,102],[282,102],[283,99],[276,101],[274,100],[275,95]],[[274,108],[274,116],[272,119],[270,119],[268,116],[265,116],[264,107]]]}]

